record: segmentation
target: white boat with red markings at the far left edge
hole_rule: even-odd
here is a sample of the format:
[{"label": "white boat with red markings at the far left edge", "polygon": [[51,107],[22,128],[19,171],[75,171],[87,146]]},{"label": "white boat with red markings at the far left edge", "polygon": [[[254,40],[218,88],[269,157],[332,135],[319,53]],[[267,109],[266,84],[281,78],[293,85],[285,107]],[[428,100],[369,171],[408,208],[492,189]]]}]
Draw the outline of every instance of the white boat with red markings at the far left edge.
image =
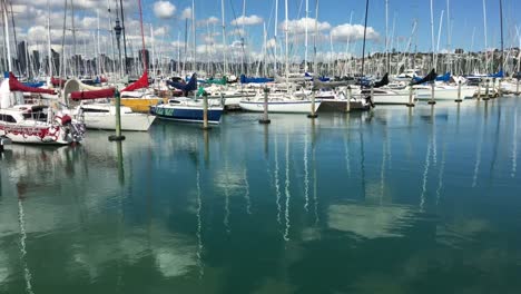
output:
[{"label": "white boat with red markings at the far left edge", "polygon": [[16,105],[0,109],[0,136],[13,143],[67,145],[83,139],[85,126],[68,115],[48,117],[49,108]]}]

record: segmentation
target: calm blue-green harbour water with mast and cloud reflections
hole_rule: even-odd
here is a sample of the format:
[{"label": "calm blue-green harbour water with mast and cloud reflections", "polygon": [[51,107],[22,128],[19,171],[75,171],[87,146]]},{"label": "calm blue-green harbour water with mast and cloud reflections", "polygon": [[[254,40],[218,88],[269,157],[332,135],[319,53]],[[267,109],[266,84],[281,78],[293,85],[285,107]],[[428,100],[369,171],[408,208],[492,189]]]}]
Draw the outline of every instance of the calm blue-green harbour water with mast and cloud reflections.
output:
[{"label": "calm blue-green harbour water with mast and cloud reflections", "polygon": [[9,146],[0,293],[520,293],[519,100]]}]

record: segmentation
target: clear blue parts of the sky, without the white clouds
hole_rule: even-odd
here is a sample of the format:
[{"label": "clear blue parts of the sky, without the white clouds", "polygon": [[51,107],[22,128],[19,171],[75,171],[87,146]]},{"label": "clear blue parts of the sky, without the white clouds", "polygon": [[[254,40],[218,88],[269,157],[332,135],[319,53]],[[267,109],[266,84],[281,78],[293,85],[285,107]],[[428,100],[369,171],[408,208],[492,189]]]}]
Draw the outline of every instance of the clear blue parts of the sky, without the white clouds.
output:
[{"label": "clear blue parts of the sky, without the white clouds", "polygon": [[[305,0],[289,0],[288,1],[288,18],[299,19],[304,17],[304,2]],[[177,13],[185,7],[191,6],[191,1],[170,1],[177,8]],[[220,0],[196,0],[196,19],[205,19],[210,16],[220,19]],[[246,16],[256,14],[265,22],[269,21],[275,0],[255,0],[246,1]],[[438,30],[440,23],[440,16],[444,10],[444,18],[441,30],[440,50],[448,48],[448,2],[446,0],[434,0],[434,39],[438,41]],[[500,23],[499,23],[499,0],[485,0],[486,4],[486,24],[488,24],[488,46],[489,48],[500,47]],[[153,1],[144,2],[145,6],[145,21],[153,21],[159,23],[168,23],[173,30],[181,29],[179,21],[176,19],[170,20],[158,20],[155,18],[153,12]],[[226,19],[227,30],[234,29],[230,21],[235,17],[239,17],[243,13],[243,0],[226,0]],[[301,8],[302,6],[302,8]],[[309,0],[309,17],[314,17],[315,0]],[[301,8],[301,12],[298,11]],[[234,11],[235,10],[235,16]],[[335,27],[343,23],[350,22],[350,16],[353,13],[353,23],[363,24],[365,11],[364,0],[322,0],[320,1],[318,20],[321,22],[327,21],[331,27]],[[504,42],[505,46],[514,45],[519,46],[519,40],[515,38],[515,26],[521,30],[521,17],[514,13],[514,11],[521,11],[521,1],[519,0],[503,0],[503,16],[504,16]],[[299,14],[298,14],[299,13]],[[278,11],[279,23],[284,20],[284,1],[279,0]],[[389,31],[392,33],[393,20],[395,20],[395,37],[401,37],[399,43],[394,42],[394,47],[404,49],[406,40],[411,36],[413,21],[417,21],[416,38],[413,40],[412,49],[414,43],[417,45],[419,51],[431,50],[431,16],[430,16],[430,0],[412,0],[412,1],[399,1],[389,0]],[[450,22],[452,33],[452,46],[451,48],[463,48],[470,49],[472,46],[472,33],[474,31],[474,50],[482,50],[484,48],[484,33],[483,33],[483,4],[482,0],[450,0]],[[268,36],[273,36],[273,19],[268,26]],[[373,27],[380,35],[380,41],[372,42],[368,46],[368,50],[377,51],[385,48],[385,0],[370,0],[370,12],[367,26]],[[220,23],[217,27],[220,31]],[[249,35],[249,42],[254,46],[262,45],[263,24],[248,26],[246,30]],[[199,29],[198,31],[206,31],[206,29]],[[324,32],[327,35],[327,32]],[[279,40],[283,39],[283,32],[279,32]],[[228,38],[230,41],[234,38]],[[515,42],[514,42],[515,40]],[[330,43],[324,42],[321,45],[322,51],[328,50]],[[360,46],[358,46],[360,47]],[[336,50],[343,50],[345,42],[334,42]],[[352,47],[352,48],[357,48]]]}]

